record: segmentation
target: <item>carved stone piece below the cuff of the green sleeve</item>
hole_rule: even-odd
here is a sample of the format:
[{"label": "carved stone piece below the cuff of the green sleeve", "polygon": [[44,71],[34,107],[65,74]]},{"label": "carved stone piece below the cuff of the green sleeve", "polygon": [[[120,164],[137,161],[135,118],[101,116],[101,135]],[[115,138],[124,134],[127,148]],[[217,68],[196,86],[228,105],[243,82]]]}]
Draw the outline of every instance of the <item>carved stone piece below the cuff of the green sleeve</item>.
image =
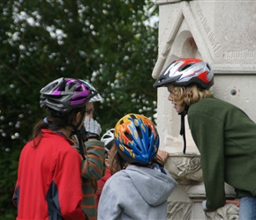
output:
[{"label": "carved stone piece below the cuff of the green sleeve", "polygon": [[206,212],[206,216],[208,220],[237,220],[239,214],[239,208],[234,204],[227,204],[220,209],[217,209],[213,212]]}]

